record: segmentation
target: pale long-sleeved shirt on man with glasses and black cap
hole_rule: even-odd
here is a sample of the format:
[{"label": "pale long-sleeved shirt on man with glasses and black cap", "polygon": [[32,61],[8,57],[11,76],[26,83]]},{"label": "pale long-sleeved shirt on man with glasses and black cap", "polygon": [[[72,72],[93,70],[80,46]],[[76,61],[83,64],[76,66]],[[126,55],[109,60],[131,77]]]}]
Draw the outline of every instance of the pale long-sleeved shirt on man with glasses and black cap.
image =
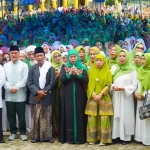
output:
[{"label": "pale long-sleeved shirt on man with glasses and black cap", "polygon": [[[28,77],[28,66],[24,62],[18,60],[13,63],[12,61],[4,65],[6,75],[5,100],[11,102],[24,102],[26,101],[26,83]],[[11,94],[10,90],[14,87],[17,89],[15,94]]]}]

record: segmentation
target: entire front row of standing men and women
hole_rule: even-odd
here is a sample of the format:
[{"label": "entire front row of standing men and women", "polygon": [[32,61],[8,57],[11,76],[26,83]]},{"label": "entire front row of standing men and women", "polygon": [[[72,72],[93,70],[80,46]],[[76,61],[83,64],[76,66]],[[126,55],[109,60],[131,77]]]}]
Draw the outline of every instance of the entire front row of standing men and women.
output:
[{"label": "entire front row of standing men and women", "polygon": [[[27,65],[19,60],[18,47],[11,46],[11,61],[4,65],[4,69],[0,66],[0,89],[4,85],[6,90],[11,132],[9,140],[16,138],[16,114],[19,119],[20,138],[27,140],[27,83],[31,92],[31,142],[53,143],[52,93],[56,83],[55,69],[49,62],[44,61],[41,47],[35,48],[34,55],[37,64],[28,73]],[[142,65],[136,70],[130,62],[128,52],[121,49],[118,60],[111,69],[105,56],[98,54],[92,68],[87,72],[77,51],[70,50],[68,62],[61,66],[60,71],[62,95],[58,118],[59,142],[82,144],[87,141],[89,144],[100,142],[100,145],[105,145],[113,140],[114,143],[128,144],[135,134],[137,143],[150,145],[150,118],[140,120],[138,114],[145,93],[150,89],[150,54],[142,55]],[[134,98],[137,99],[136,117]],[[1,111],[0,103],[0,142],[4,142]]]}]

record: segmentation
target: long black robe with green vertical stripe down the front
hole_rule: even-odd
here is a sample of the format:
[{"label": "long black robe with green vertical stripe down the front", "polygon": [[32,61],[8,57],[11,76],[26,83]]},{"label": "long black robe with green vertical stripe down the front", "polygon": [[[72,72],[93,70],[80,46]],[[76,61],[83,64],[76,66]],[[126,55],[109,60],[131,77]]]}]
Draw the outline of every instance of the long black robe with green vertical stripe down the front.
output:
[{"label": "long black robe with green vertical stripe down the front", "polygon": [[64,68],[65,65],[62,66],[60,72],[63,88],[59,142],[82,144],[86,142],[87,117],[85,107],[87,96],[84,86],[88,83],[88,75],[83,70],[81,78],[72,75],[68,79]]}]

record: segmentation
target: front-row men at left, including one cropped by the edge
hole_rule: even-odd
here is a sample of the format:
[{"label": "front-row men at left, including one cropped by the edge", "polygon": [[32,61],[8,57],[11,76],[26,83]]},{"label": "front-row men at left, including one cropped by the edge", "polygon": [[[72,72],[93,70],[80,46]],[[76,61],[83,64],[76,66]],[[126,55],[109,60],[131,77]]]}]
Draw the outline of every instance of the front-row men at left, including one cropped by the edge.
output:
[{"label": "front-row men at left, including one cropped by the edge", "polygon": [[[30,68],[19,60],[18,46],[10,47],[11,61],[0,66],[0,93],[4,85],[7,117],[10,125],[9,140],[17,138],[16,114],[19,120],[20,138],[27,140],[25,108],[26,84],[30,93],[29,103],[31,108],[31,142],[54,142],[51,132],[52,100],[51,90],[55,85],[55,70],[51,64],[44,61],[43,48],[37,47],[34,51],[37,64]],[[31,60],[32,61],[32,60]],[[28,82],[27,82],[28,80]],[[48,117],[47,117],[48,116]],[[30,117],[29,117],[30,118]],[[40,137],[40,138],[39,138]],[[2,132],[2,98],[0,95],[0,142],[4,143]]]}]

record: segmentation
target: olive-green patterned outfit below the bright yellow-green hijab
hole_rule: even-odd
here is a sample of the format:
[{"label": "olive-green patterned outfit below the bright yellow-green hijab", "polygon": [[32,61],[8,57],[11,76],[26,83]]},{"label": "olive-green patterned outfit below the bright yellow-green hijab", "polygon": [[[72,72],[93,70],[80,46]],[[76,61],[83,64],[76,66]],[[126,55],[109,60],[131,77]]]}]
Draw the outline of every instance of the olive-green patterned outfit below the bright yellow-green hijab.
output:
[{"label": "olive-green patterned outfit below the bright yellow-green hijab", "polygon": [[87,142],[112,143],[110,116],[113,115],[109,86],[103,91],[104,96],[99,104],[92,98],[88,100],[85,114],[88,115]]}]

